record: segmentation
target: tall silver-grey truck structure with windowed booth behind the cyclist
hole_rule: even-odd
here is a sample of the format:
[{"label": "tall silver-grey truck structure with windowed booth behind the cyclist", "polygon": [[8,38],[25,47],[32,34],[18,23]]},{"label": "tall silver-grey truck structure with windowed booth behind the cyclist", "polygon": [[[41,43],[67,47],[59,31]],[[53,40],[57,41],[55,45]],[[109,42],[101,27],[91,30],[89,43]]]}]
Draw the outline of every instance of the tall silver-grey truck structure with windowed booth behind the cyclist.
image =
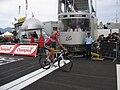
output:
[{"label": "tall silver-grey truck structure with windowed booth behind the cyclist", "polygon": [[[91,0],[59,0],[58,19],[60,41],[76,56],[85,51],[86,33],[90,32],[93,38],[97,38],[97,18]],[[78,32],[75,31],[77,25],[80,27]],[[68,32],[68,26],[73,31]]]}]

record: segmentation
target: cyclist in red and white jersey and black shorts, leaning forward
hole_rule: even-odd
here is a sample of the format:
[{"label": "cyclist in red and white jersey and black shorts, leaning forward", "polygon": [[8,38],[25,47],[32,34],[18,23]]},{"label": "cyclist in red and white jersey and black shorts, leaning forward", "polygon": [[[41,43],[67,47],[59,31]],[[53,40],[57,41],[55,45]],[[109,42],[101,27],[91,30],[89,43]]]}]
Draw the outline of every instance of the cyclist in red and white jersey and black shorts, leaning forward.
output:
[{"label": "cyclist in red and white jersey and black shorts, leaning forward", "polygon": [[50,51],[50,53],[47,56],[47,60],[49,61],[50,56],[52,56],[52,61],[54,62],[54,42],[57,42],[58,45],[65,51],[67,51],[67,49],[60,43],[58,37],[60,36],[60,32],[59,31],[54,31],[51,33],[51,35],[49,36],[49,38],[46,39],[45,41],[45,46],[46,48]]}]

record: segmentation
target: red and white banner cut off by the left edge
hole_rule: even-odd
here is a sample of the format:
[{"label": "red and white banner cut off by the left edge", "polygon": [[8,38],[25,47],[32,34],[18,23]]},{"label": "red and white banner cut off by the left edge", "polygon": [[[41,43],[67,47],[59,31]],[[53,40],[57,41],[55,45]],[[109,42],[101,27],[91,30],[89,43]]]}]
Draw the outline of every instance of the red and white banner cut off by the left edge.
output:
[{"label": "red and white banner cut off by the left edge", "polygon": [[0,54],[13,54],[15,45],[2,45],[0,44]]}]

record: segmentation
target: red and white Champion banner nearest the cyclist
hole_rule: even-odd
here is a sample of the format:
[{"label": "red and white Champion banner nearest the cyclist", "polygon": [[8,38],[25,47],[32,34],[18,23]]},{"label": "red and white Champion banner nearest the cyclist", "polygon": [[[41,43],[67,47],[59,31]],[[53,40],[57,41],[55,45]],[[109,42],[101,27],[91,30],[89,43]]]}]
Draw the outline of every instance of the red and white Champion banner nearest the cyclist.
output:
[{"label": "red and white Champion banner nearest the cyclist", "polygon": [[17,44],[15,47],[14,54],[26,55],[26,56],[36,56],[37,47],[38,47],[37,44],[28,44],[28,45]]}]

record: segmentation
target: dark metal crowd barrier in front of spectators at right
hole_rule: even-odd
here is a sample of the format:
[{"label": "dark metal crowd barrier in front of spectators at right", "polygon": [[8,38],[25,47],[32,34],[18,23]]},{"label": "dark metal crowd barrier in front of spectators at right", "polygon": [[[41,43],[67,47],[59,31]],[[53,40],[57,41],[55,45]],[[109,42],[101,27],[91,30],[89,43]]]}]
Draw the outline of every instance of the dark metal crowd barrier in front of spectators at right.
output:
[{"label": "dark metal crowd barrier in front of spectators at right", "polygon": [[104,58],[111,58],[113,62],[119,57],[118,42],[102,42],[100,43],[100,54]]}]

